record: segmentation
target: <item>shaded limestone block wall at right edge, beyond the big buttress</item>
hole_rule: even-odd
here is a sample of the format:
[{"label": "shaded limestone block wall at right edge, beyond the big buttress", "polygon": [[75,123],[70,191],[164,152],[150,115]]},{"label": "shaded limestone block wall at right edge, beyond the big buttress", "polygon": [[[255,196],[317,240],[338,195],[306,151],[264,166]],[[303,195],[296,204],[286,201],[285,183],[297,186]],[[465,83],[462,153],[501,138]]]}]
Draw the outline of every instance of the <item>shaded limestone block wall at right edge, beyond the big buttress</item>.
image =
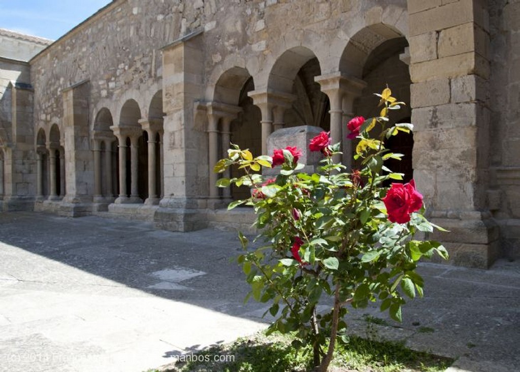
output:
[{"label": "shaded limestone block wall at right edge, beyond the big buttress", "polygon": [[506,255],[520,256],[520,3],[494,0],[490,8],[490,190]]}]

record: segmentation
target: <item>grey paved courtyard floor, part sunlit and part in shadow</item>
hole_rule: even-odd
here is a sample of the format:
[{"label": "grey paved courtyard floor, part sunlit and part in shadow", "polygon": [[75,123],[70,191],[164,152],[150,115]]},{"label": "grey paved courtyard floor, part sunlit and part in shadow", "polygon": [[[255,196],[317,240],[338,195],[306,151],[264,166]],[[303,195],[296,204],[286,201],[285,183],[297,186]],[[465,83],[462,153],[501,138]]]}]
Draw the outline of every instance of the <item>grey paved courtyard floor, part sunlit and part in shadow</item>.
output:
[{"label": "grey paved courtyard floor, part sunlit and part in shadow", "polygon": [[[0,213],[0,371],[142,371],[265,327],[230,258],[235,233]],[[520,265],[424,264],[425,298],[376,333],[458,358],[451,370],[520,370]],[[363,314],[351,314],[363,334]]]}]

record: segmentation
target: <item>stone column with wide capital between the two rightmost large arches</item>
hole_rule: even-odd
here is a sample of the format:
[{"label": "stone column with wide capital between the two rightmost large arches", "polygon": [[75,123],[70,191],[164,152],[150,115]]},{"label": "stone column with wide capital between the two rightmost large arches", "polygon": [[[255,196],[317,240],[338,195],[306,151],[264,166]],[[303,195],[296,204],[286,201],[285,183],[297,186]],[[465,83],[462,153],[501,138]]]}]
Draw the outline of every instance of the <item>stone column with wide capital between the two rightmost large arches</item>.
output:
[{"label": "stone column with wide capital between the two rightmost large arches", "polygon": [[[363,88],[367,85],[362,80],[347,76],[341,72],[335,72],[328,75],[315,76],[314,81],[320,84],[321,91],[325,93],[330,100],[330,137],[331,143],[340,143],[340,151],[343,151],[344,129],[347,123],[343,122],[343,105],[344,98],[347,101],[354,100],[355,97],[361,95]],[[352,112],[352,108],[350,110]],[[334,161],[340,162],[340,156],[335,156]]]}]

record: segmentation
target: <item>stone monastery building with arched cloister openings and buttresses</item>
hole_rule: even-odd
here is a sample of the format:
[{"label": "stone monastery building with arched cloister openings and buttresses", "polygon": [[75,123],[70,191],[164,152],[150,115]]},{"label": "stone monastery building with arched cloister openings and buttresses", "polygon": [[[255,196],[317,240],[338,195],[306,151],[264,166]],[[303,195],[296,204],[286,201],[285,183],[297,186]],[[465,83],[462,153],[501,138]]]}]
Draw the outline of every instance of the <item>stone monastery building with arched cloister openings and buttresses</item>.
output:
[{"label": "stone monastery building with arched cloister openings and buttresses", "polygon": [[[0,31],[0,210],[248,226],[229,142],[409,102],[413,178],[454,263],[520,256],[520,2],[114,0],[55,42]],[[288,144],[290,145],[290,144]]]}]

